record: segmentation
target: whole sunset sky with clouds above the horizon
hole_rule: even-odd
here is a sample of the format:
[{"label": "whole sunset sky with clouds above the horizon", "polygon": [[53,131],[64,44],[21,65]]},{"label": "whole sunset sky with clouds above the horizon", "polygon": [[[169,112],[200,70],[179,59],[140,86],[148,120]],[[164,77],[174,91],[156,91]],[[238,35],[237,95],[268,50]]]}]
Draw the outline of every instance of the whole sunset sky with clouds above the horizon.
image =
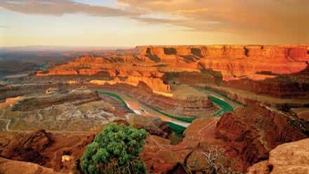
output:
[{"label": "whole sunset sky with clouds above the horizon", "polygon": [[0,47],[308,44],[308,0],[0,0]]}]

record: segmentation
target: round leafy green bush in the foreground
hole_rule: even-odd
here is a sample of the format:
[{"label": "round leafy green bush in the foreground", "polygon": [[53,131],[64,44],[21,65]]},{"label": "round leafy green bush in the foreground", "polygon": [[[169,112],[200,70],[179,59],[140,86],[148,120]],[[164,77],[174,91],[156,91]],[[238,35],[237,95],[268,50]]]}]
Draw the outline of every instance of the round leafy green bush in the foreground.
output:
[{"label": "round leafy green bush in the foreground", "polygon": [[146,173],[138,154],[145,145],[144,129],[111,123],[86,147],[81,157],[81,170],[97,173]]}]

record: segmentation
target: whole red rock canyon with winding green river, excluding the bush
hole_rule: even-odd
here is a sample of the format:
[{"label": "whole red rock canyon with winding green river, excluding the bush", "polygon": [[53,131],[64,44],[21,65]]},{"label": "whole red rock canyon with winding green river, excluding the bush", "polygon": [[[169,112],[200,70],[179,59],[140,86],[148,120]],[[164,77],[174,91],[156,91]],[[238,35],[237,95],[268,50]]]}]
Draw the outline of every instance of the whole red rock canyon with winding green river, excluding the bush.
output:
[{"label": "whole red rock canyon with winding green river, excluding the bush", "polygon": [[308,172],[308,66],[306,44],[136,46],[4,76],[0,173],[80,173],[108,123],[147,131],[148,173],[207,173],[214,152],[222,170]]}]

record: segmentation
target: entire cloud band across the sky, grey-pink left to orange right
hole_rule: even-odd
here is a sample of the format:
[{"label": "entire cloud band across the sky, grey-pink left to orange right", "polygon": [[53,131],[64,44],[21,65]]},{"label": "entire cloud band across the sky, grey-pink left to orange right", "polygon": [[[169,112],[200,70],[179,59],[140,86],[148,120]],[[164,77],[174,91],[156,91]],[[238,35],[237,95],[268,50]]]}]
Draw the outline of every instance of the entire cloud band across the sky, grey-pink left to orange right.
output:
[{"label": "entire cloud band across the sky, grey-pink left to orange right", "polygon": [[25,14],[84,13],[176,25],[184,31],[225,32],[294,43],[309,41],[308,0],[117,0],[116,4],[119,8],[70,0],[0,1],[0,7]]}]

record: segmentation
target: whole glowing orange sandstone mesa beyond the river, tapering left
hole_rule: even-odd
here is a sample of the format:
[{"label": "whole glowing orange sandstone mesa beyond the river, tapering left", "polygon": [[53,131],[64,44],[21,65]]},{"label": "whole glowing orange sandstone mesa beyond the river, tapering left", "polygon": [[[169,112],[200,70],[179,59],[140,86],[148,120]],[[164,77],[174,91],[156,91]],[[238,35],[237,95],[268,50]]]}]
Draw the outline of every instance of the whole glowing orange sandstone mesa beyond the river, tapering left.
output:
[{"label": "whole glowing orange sandstone mesa beyond the river, tapering left", "polygon": [[294,91],[298,96],[309,91],[309,45],[140,46],[136,50],[140,53],[83,56],[37,76],[79,75],[111,83],[121,79],[121,83],[135,86],[143,81],[153,91],[169,93],[171,82],[166,74],[195,72],[179,78],[280,98],[288,98]]}]

